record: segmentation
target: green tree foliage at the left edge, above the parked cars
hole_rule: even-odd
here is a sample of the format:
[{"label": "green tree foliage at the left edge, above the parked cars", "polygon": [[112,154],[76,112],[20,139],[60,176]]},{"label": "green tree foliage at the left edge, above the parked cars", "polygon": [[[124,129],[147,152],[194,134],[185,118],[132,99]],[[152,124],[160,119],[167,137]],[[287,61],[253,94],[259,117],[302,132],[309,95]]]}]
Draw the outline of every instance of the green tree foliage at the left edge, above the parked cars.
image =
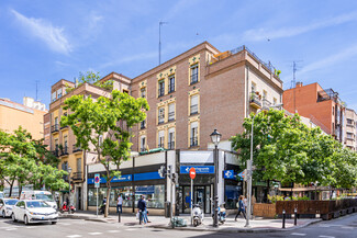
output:
[{"label": "green tree foliage at the left edge, above the parked cars", "polygon": [[62,179],[67,172],[58,171],[58,162],[41,143],[33,140],[21,126],[12,134],[0,132],[0,178],[9,184],[10,196],[14,182],[18,182],[20,193],[27,184],[35,189],[45,185],[51,190],[67,186]]}]

